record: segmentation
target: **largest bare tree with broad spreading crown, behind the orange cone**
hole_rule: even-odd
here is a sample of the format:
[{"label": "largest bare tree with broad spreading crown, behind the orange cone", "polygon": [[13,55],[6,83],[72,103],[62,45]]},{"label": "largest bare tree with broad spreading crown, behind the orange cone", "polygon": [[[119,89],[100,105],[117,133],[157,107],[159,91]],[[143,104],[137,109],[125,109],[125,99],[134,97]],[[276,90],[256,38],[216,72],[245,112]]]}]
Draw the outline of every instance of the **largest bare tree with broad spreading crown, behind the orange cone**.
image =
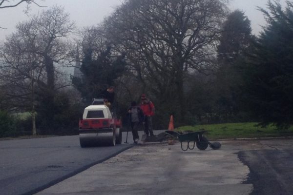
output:
[{"label": "largest bare tree with broad spreading crown, behind the orange cone", "polygon": [[209,68],[225,14],[224,0],[127,0],[105,25],[143,91],[184,121],[185,74]]}]

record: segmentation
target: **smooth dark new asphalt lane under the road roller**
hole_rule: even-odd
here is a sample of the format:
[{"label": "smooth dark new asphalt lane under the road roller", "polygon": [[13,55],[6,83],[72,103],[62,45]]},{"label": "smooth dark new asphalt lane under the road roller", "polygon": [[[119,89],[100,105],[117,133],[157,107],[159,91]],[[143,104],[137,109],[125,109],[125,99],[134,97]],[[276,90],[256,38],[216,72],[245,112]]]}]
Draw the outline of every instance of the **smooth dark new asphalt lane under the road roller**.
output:
[{"label": "smooth dark new asphalt lane under the road roller", "polygon": [[0,194],[34,194],[131,146],[81,148],[78,136],[0,141]]}]

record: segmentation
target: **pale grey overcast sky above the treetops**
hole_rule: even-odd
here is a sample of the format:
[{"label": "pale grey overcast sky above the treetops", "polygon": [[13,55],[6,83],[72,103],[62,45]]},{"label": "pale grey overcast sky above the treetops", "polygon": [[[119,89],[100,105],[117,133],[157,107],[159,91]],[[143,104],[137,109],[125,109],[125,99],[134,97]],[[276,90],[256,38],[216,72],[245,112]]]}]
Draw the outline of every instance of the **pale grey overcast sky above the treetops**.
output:
[{"label": "pale grey overcast sky above the treetops", "polygon": [[[54,4],[61,5],[65,11],[70,14],[71,20],[76,22],[77,27],[95,25],[101,22],[106,16],[109,16],[119,6],[123,0],[38,0],[40,5],[51,7]],[[285,0],[280,0],[285,4]],[[267,0],[231,0],[231,10],[240,9],[245,12],[251,20],[252,33],[257,35],[261,30],[260,25],[264,25],[265,21],[261,12],[256,6],[266,7]],[[19,21],[27,20],[29,16],[22,11],[25,6],[20,5],[15,8],[7,8],[0,10],[0,26],[7,29],[0,29],[0,40],[4,40],[15,30],[15,25]],[[31,6],[30,15],[38,13],[42,9],[36,5]]]}]

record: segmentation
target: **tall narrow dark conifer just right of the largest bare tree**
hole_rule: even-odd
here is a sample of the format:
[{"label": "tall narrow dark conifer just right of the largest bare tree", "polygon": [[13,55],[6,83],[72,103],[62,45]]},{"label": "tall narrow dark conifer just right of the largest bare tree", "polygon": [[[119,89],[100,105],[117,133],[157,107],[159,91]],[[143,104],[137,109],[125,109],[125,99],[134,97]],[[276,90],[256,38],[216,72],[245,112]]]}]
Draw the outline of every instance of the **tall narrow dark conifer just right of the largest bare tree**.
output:
[{"label": "tall narrow dark conifer just right of the largest bare tree", "polygon": [[235,10],[230,13],[223,25],[218,45],[218,70],[216,72],[215,109],[220,122],[229,122],[239,111],[237,102],[237,82],[240,82],[238,61],[252,44],[251,21],[244,12]]}]

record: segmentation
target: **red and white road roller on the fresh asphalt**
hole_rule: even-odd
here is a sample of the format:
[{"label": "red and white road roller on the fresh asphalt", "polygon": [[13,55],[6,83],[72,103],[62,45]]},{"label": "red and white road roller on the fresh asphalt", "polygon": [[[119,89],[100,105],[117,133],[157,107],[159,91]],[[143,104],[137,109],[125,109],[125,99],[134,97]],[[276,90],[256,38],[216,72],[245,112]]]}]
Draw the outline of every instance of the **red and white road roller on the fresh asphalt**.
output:
[{"label": "red and white road roller on the fresh asphalt", "polygon": [[90,105],[79,120],[79,138],[82,148],[121,144],[121,120],[106,105]]}]

